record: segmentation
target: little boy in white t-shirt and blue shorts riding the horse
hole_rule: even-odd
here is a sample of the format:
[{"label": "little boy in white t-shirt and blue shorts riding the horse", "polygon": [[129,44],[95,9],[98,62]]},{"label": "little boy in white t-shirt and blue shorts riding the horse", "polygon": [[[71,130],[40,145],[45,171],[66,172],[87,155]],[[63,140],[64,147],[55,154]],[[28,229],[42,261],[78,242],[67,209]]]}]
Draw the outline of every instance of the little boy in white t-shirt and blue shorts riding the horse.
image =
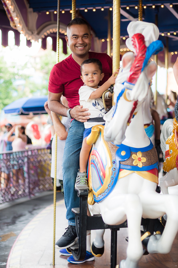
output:
[{"label": "little boy in white t-shirt and blue shorts riding the horse", "polygon": [[[79,102],[83,105],[83,108],[88,108],[90,113],[90,119],[84,122],[85,131],[83,133],[82,149],[80,151],[80,170],[77,173],[77,179],[75,183],[76,189],[87,189],[87,164],[92,146],[89,146],[86,142],[87,136],[91,133],[91,128],[95,125],[104,125],[103,119],[106,110],[102,102],[102,94],[111,85],[115,84],[118,71],[114,72],[112,76],[100,87],[99,82],[103,79],[104,73],[102,73],[102,64],[98,59],[84,60],[81,68],[81,79],[84,85],[79,89]],[[105,97],[111,98],[112,94],[107,92]]]}]

